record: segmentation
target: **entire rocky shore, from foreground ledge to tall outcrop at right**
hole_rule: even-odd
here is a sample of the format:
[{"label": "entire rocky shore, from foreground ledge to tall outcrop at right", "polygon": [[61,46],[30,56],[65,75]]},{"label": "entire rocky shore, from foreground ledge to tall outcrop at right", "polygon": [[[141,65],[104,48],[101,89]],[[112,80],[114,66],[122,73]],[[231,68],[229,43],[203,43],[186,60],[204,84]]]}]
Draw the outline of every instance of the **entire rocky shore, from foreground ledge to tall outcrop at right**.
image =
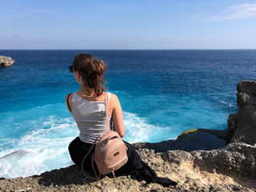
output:
[{"label": "entire rocky shore, from foreground ledge to tall outcrop at right", "polygon": [[228,130],[187,130],[176,140],[133,144],[159,177],[178,186],[129,175],[95,182],[73,165],[28,178],[0,178],[0,191],[256,191],[256,80],[238,82],[237,98],[238,114],[230,114]]}]

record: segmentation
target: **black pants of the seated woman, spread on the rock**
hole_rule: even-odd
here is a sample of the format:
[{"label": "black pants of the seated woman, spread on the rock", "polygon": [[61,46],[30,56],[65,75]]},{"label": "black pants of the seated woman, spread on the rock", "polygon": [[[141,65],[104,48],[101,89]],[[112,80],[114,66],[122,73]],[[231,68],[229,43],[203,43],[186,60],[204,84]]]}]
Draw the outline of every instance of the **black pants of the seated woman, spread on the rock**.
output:
[{"label": "black pants of the seated woman, spread on the rock", "polygon": [[[145,180],[146,182],[157,182],[162,186],[174,186],[177,185],[177,182],[171,181],[169,178],[158,178],[155,174],[154,170],[150,168],[150,166],[146,165],[145,162],[142,162],[141,158],[138,156],[138,153],[134,149],[130,143],[125,142],[128,148],[127,156],[128,161],[124,166],[122,166],[119,170],[115,170],[114,174],[116,176],[119,175],[127,175],[130,174],[131,178],[134,178],[138,181]],[[78,166],[82,166],[82,160],[90,150],[92,144],[82,142],[79,138],[75,138],[72,142],[70,142],[69,151],[70,157],[72,161]],[[94,170],[91,166],[91,157],[94,153],[94,149],[90,151],[85,162],[84,169],[91,174],[94,174]],[[96,165],[94,165],[96,167]],[[109,174],[111,175],[111,174]]]}]

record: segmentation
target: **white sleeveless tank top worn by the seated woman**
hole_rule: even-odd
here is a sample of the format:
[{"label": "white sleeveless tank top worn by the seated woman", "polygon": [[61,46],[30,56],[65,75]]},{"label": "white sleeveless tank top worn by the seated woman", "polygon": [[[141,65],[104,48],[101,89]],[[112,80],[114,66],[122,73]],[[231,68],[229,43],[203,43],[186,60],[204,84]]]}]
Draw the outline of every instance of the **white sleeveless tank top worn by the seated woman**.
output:
[{"label": "white sleeveless tank top worn by the seated woman", "polygon": [[[107,98],[109,101],[109,92]],[[80,130],[79,138],[82,142],[94,143],[99,135],[106,133],[105,102],[91,102],[73,93],[71,114]],[[110,115],[110,129],[111,127],[112,118]]]}]

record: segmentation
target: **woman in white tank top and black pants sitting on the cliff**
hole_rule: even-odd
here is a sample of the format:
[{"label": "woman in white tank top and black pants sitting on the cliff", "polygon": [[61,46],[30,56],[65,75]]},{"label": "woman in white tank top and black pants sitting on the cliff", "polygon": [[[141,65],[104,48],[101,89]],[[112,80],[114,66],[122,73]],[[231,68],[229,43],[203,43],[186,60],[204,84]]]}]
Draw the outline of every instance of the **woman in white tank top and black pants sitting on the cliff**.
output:
[{"label": "woman in white tank top and black pants sitting on the cliff", "polygon": [[[103,82],[106,65],[90,54],[78,54],[74,58],[73,66],[70,66],[70,71],[81,88],[73,94],[66,95],[66,106],[80,130],[79,137],[70,142],[69,151],[72,161],[78,166],[82,166],[82,159],[90,150],[95,139],[99,135],[105,134],[107,130],[104,102],[106,87]],[[107,96],[110,127],[113,125],[114,130],[123,137],[125,127],[120,102],[115,94],[107,93]],[[130,174],[134,179],[158,182],[163,186],[177,184],[168,178],[158,178],[154,170],[142,162],[134,147],[125,143],[128,149],[128,162],[119,170],[115,170],[115,175]],[[93,152],[94,150],[88,154],[88,158],[84,162],[85,169],[90,173],[94,173],[90,162]]]}]

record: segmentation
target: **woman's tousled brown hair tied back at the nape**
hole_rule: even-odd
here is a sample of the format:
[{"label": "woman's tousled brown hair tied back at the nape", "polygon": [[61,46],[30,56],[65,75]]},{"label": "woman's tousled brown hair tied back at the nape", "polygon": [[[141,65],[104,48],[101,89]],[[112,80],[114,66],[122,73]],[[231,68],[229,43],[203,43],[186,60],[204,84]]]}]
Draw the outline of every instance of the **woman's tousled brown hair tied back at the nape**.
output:
[{"label": "woman's tousled brown hair tied back at the nape", "polygon": [[106,90],[103,74],[106,71],[106,65],[103,61],[97,60],[90,54],[78,54],[74,57],[73,69],[82,75],[82,83],[89,95],[98,96]]}]

